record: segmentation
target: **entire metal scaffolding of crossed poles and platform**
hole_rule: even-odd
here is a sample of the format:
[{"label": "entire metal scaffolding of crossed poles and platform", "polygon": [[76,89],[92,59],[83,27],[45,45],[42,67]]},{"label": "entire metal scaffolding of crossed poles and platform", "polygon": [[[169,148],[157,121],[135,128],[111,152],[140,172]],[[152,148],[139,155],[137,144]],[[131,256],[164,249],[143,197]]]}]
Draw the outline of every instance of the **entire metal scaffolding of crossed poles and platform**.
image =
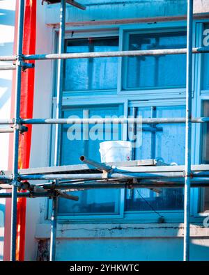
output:
[{"label": "entire metal scaffolding of crossed poles and platform", "polygon": [[[15,61],[11,65],[1,65],[0,70],[16,70],[15,85],[15,118],[0,120],[0,125],[8,125],[1,128],[1,133],[14,134],[13,143],[13,171],[0,175],[1,189],[12,189],[10,193],[0,193],[2,198],[12,198],[11,210],[11,246],[10,260],[15,261],[16,251],[16,223],[17,223],[17,197],[52,198],[52,218],[51,218],[51,236],[50,236],[50,260],[55,260],[56,250],[56,217],[58,197],[78,200],[77,196],[72,196],[65,191],[85,190],[85,189],[123,189],[123,188],[169,188],[184,187],[185,205],[184,205],[184,257],[183,260],[189,260],[189,213],[190,213],[190,187],[209,187],[209,165],[191,165],[191,137],[192,123],[208,123],[208,117],[192,118],[192,54],[208,53],[207,47],[192,47],[192,25],[193,25],[193,0],[187,1],[187,48],[186,49],[155,49],[155,50],[137,50],[121,52],[90,52],[65,54],[64,36],[65,36],[65,6],[70,3],[77,8],[85,7],[73,0],[47,1],[49,3],[61,2],[60,8],[60,27],[59,27],[59,52],[58,54],[31,54],[22,53],[23,24],[24,24],[24,0],[19,1],[18,17],[18,35],[17,35],[17,55],[0,56],[0,61]],[[126,124],[128,118],[82,118],[65,119],[61,118],[62,98],[63,98],[63,59],[67,58],[98,58],[112,56],[159,56],[162,54],[187,54],[187,79],[186,79],[186,117],[185,118],[144,118],[140,123],[158,124],[158,123],[185,123],[185,165],[167,166],[167,165],[143,165],[139,166],[140,161],[130,161],[127,163],[101,164],[88,159],[84,156],[81,161],[85,164],[72,166],[59,166],[60,164],[60,139],[61,125],[68,123],[121,123]],[[20,118],[20,90],[21,90],[21,72],[31,69],[34,64],[26,63],[30,60],[58,60],[57,70],[57,97],[56,97],[56,118]],[[137,118],[131,119],[131,123],[138,123]],[[55,156],[53,167],[29,168],[18,170],[18,148],[19,135],[26,132],[27,124],[52,125],[55,129]],[[153,160],[149,160],[149,162]],[[94,168],[92,168],[92,166]],[[42,184],[29,184],[27,180],[51,180],[52,182]],[[63,181],[65,180],[65,181]],[[26,190],[25,193],[17,192],[18,189]]]}]

